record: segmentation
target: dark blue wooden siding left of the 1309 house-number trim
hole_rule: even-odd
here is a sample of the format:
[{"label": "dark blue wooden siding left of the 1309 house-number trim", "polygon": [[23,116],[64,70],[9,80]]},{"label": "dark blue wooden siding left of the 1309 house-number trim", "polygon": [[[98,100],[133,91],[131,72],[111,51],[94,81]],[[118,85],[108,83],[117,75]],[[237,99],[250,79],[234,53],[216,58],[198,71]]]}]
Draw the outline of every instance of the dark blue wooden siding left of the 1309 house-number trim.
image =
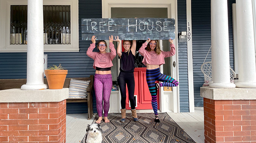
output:
[{"label": "dark blue wooden siding left of the 1309 house-number trim", "polygon": [[[91,41],[81,40],[81,18],[101,18],[101,0],[79,0],[79,52],[61,52],[48,55],[48,65],[61,63],[69,70],[68,78],[93,75],[93,60],[86,56]],[[186,31],[186,0],[178,1],[178,32]],[[179,43],[180,108],[189,111],[187,81],[187,47]],[[27,53],[0,53],[0,79],[26,78]],[[96,112],[95,95],[93,100]],[[87,113],[87,103],[67,103],[67,113]]]}]

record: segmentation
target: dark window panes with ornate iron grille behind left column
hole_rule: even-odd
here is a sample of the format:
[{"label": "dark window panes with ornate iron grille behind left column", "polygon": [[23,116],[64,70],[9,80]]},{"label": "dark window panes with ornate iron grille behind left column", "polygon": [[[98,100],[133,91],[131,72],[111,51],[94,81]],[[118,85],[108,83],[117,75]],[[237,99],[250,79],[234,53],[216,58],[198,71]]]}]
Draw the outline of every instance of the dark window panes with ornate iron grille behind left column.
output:
[{"label": "dark window panes with ornate iron grille behind left column", "polygon": [[[70,5],[44,5],[44,44],[71,44]],[[27,5],[11,5],[10,44],[27,44]]]}]

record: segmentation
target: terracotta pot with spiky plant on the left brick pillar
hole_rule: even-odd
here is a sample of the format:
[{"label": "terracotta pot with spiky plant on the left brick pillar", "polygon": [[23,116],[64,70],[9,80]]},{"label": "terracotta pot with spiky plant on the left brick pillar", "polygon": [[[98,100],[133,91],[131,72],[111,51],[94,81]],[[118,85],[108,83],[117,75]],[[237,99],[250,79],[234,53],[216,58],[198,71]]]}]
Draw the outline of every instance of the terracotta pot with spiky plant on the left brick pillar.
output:
[{"label": "terracotta pot with spiky plant on the left brick pillar", "polygon": [[66,68],[62,67],[61,64],[59,64],[59,66],[53,65],[52,67],[47,68],[47,70],[44,70],[49,89],[63,88],[67,76],[67,70],[64,69]]}]

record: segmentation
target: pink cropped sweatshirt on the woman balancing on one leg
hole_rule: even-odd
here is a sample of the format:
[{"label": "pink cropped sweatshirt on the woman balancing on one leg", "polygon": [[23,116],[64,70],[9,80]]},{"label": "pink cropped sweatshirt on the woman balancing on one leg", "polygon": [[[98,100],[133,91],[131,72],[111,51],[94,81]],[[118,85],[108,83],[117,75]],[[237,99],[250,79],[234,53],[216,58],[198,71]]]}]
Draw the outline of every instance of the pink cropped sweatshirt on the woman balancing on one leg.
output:
[{"label": "pink cropped sweatshirt on the woman balancing on one leg", "polygon": [[155,51],[148,52],[145,50],[148,43],[145,42],[140,47],[139,53],[144,56],[142,63],[143,64],[151,64],[151,65],[162,65],[165,64],[165,58],[175,55],[175,46],[174,44],[170,44],[171,50],[168,52],[162,51],[160,55],[157,55]]}]

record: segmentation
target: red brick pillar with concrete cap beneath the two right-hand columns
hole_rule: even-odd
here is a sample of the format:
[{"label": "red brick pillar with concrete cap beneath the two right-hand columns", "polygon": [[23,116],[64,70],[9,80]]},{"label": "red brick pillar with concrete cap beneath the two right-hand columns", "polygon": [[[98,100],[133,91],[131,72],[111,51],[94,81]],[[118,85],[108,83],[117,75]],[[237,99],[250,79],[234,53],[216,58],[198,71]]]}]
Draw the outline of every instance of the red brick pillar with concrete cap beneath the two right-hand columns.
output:
[{"label": "red brick pillar with concrete cap beneath the two right-hand columns", "polygon": [[204,142],[256,143],[255,95],[256,89],[201,87],[201,96],[204,97]]}]

